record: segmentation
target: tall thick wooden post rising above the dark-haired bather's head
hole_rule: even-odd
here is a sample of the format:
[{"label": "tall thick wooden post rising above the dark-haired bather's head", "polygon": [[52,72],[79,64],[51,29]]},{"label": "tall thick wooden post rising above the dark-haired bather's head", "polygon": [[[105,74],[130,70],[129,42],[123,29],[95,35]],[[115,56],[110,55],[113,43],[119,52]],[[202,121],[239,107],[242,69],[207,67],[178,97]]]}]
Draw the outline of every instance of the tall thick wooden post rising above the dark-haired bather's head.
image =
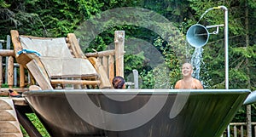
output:
[{"label": "tall thick wooden post rising above the dark-haired bather's head", "polygon": [[125,31],[114,31],[116,76],[124,77]]}]

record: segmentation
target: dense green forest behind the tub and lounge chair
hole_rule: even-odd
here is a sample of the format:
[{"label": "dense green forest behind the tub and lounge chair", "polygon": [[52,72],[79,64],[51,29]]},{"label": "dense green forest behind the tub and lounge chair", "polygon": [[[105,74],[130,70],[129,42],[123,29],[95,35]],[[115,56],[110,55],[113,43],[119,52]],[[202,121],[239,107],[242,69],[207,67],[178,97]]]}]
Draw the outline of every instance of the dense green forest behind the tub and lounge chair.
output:
[{"label": "dense green forest behind the tub and lounge chair", "polygon": [[[185,43],[185,35],[196,23],[203,26],[224,24],[224,11],[212,7],[224,5],[229,10],[229,80],[230,88],[256,90],[256,3],[253,0],[0,0],[0,39],[10,30],[38,37],[66,37],[87,20],[99,18],[109,9],[134,7],[148,9],[172,22],[172,27],[162,28],[162,35],[145,27],[118,24],[102,31],[88,45],[81,42],[84,53],[108,49],[113,43],[113,31],[125,31],[125,79],[131,81],[133,69],[139,71],[140,88],[173,88],[180,79],[180,66],[191,60],[194,48]],[[129,16],[130,13],[126,14]],[[143,14],[137,14],[143,18]],[[198,22],[200,20],[200,22]],[[108,20],[106,24],[113,24]],[[146,22],[150,25],[152,22]],[[84,31],[86,36],[90,31]],[[78,37],[84,38],[82,34]],[[154,55],[148,54],[140,39],[160,53],[163,63],[154,66]],[[128,52],[127,52],[128,51]],[[224,88],[224,27],[218,35],[211,35],[203,47],[200,80],[205,88]],[[164,83],[163,83],[164,82]],[[246,109],[241,108],[234,122],[245,122]],[[253,105],[252,121],[256,122]]]}]

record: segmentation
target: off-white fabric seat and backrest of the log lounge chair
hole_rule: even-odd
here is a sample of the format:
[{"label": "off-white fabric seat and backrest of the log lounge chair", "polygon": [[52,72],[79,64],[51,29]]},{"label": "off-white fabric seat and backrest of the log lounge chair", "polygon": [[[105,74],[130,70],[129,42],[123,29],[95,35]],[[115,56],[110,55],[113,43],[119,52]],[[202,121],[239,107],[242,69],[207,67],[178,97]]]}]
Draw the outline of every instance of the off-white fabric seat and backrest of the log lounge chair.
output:
[{"label": "off-white fabric seat and backrest of the log lounge chair", "polygon": [[30,49],[41,54],[39,59],[50,78],[57,77],[97,77],[95,68],[87,59],[73,58],[67,48],[65,37],[42,38],[22,37],[23,49]]}]

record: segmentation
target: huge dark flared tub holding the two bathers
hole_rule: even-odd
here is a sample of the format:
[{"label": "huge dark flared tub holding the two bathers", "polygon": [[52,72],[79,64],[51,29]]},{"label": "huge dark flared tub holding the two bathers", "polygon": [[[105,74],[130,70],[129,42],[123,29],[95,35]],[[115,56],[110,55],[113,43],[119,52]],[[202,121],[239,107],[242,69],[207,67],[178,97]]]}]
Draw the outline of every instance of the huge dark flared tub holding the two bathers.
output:
[{"label": "huge dark flared tub holding the two bathers", "polygon": [[[78,89],[23,95],[55,137],[219,137],[248,94],[247,89]],[[137,110],[142,115],[125,115]]]}]

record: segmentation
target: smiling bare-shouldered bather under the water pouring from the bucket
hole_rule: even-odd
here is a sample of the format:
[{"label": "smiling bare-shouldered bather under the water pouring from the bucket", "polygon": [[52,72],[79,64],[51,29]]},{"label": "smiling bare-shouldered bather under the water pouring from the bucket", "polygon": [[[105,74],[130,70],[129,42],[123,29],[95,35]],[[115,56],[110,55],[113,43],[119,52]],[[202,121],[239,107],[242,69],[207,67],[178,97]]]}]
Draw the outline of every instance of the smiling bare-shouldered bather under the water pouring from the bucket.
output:
[{"label": "smiling bare-shouldered bather under the water pouring from the bucket", "polygon": [[177,81],[176,89],[203,89],[201,82],[192,77],[193,66],[190,63],[184,63],[182,66],[183,79]]}]

